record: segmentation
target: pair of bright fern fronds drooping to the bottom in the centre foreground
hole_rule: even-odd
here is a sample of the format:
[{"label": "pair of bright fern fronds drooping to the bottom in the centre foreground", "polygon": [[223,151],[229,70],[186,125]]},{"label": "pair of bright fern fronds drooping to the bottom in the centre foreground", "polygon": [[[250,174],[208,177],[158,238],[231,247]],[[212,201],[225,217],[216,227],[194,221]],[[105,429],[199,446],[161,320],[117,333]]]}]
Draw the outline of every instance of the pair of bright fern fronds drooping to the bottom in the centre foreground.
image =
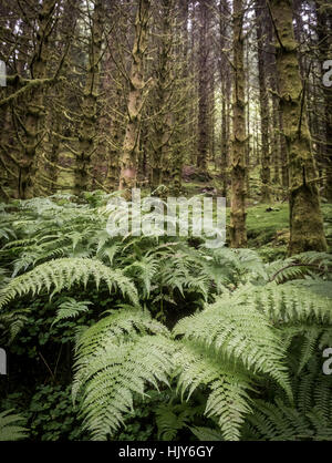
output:
[{"label": "pair of bright fern fronds drooping to the bottom in the centre foreground", "polygon": [[123,423],[133,407],[133,393],[149,383],[177,389],[187,400],[198,387],[207,389],[205,413],[218,416],[226,439],[238,439],[250,410],[249,379],[231,366],[189,342],[172,340],[166,328],[146,311],[123,308],[89,328],[77,341],[74,398],[82,391],[82,413],[93,439],[105,439]]}]

